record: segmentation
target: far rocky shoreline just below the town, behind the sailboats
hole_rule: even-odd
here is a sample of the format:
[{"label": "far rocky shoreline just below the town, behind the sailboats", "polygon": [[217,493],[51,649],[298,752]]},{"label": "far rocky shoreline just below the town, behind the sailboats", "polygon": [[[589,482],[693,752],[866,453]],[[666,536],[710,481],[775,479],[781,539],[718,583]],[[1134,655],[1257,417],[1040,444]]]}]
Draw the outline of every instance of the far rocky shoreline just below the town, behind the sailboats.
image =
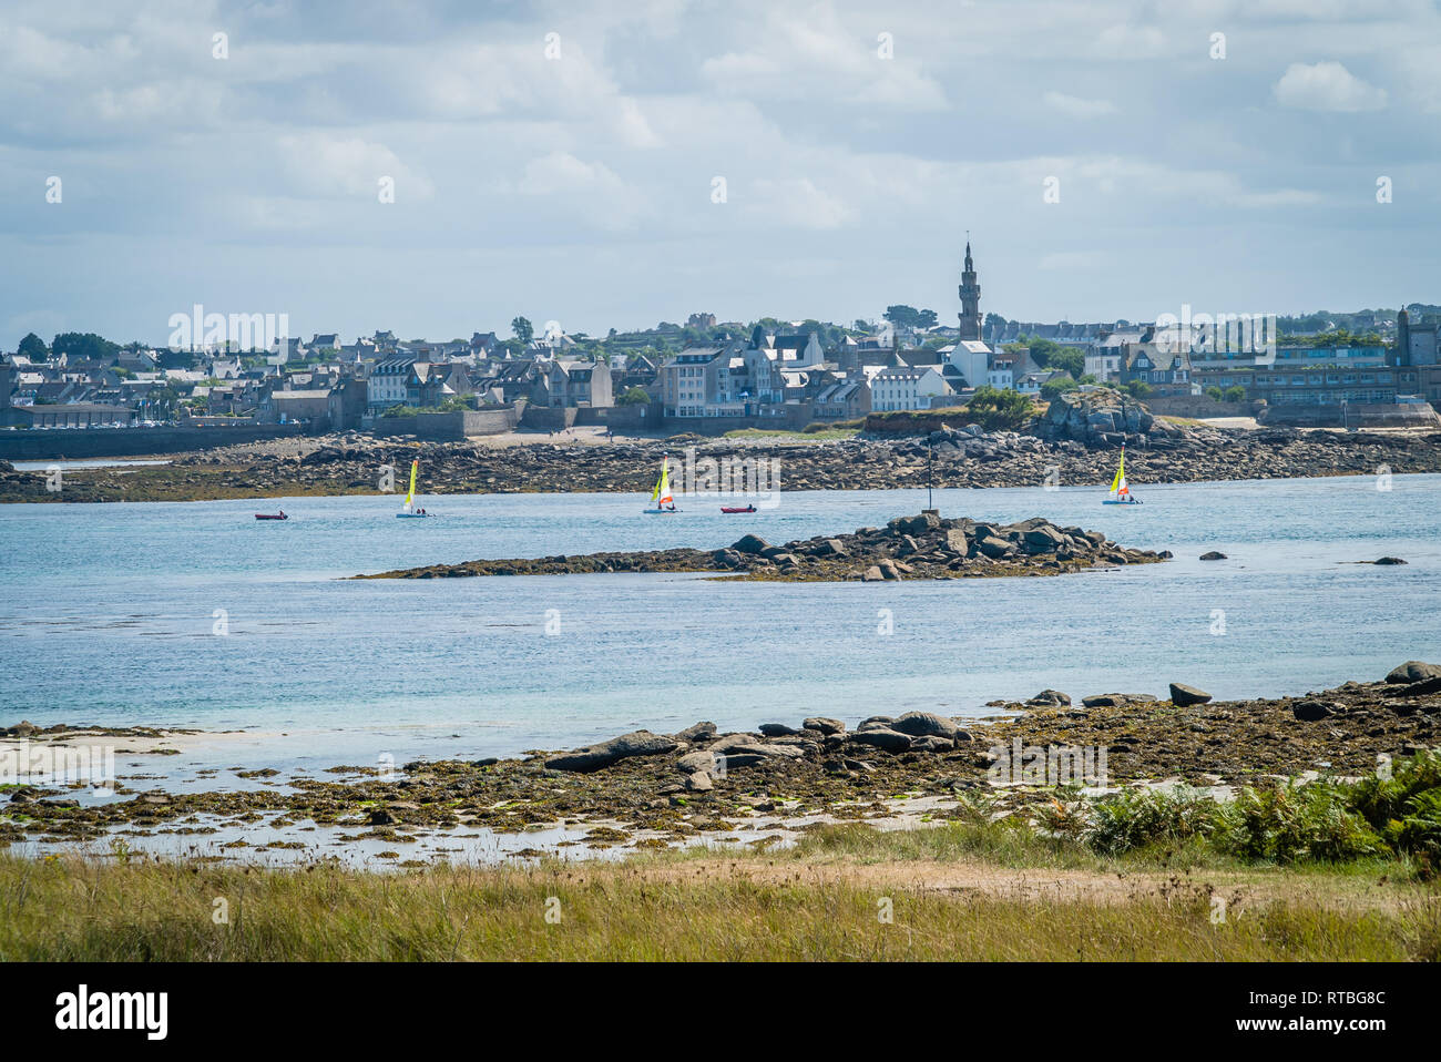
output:
[{"label": "far rocky shoreline just below the town, behind the sailboats", "polygon": [[[1156,421],[1156,425],[1166,421]],[[167,465],[65,473],[49,490],[40,471],[0,461],[0,501],[199,501],[215,499],[379,494],[380,468],[419,458],[424,493],[634,493],[650,490],[660,458],[695,447],[699,457],[729,454],[780,461],[782,490],[892,490],[924,487],[1038,487],[1104,484],[1115,470],[1117,439],[1128,441],[1133,481],[1196,483],[1441,471],[1441,434],[1330,432],[1271,428],[1221,431],[1172,425],[1147,434],[1099,432],[1066,438],[1050,422],[1035,431],[945,427],[927,437],[857,437],[827,442],[660,441],[602,445],[532,442],[406,442],[359,434],[305,439],[304,452],[229,447],[177,457]]]}]

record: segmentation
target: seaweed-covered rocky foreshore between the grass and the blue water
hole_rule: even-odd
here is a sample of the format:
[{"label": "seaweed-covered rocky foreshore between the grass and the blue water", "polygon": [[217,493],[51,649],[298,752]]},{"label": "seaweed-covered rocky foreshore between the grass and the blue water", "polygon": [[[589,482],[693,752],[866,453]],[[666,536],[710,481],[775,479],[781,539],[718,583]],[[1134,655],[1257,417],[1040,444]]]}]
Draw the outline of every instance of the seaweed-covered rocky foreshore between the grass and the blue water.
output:
[{"label": "seaweed-covered rocky foreshore between the grass and the blue water", "polygon": [[[981,719],[876,715],[853,729],[818,715],[739,733],[699,722],[520,759],[415,761],[392,775],[336,767],[334,781],[277,778],[245,791],[137,793],[121,780],[118,798],[92,804],[61,788],[9,787],[0,847],[92,842],[115,831],[205,836],[226,826],[264,830],[269,840],[256,843],[269,847],[298,847],[295,831],[317,827],[340,829],[339,843],[403,846],[434,834],[556,826],[584,831],[566,844],[669,847],[733,842],[757,829],[880,821],[906,806],[924,808],[924,821],[945,821],[974,814],[967,801],[977,794],[994,801],[997,814],[1053,804],[1053,780],[997,780],[997,765],[1020,748],[1104,752],[1110,791],[1169,780],[1223,797],[1268,780],[1369,775],[1388,758],[1435,746],[1441,666],[1412,660],[1380,680],[1278,699],[1216,702],[1173,683],[1161,696],[1072,700],[1043,690],[989,708],[994,715]],[[75,733],[26,731],[32,742]]]}]

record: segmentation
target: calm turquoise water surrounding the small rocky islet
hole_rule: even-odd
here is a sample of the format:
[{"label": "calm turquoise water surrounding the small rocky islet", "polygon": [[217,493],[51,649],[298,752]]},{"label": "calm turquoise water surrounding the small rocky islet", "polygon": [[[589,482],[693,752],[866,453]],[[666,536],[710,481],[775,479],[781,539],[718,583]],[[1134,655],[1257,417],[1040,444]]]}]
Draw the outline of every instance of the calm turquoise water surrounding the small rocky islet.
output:
[{"label": "calm turquoise water surrounding the small rocky islet", "polygon": [[[787,493],[754,516],[692,503],[661,519],[607,494],[422,499],[434,520],[396,520],[395,499],[367,497],[0,506],[0,723],[284,732],[215,755],[314,768],[379,752],[506,755],[697,719],[980,713],[1045,686],[1297,693],[1441,659],[1441,476],[1396,477],[1391,491],[1370,478],[1147,487],[1137,509],[1099,497],[945,490],[937,504],[1046,516],[1177,559],[898,585],[346,582],[478,556],[713,548],[749,530],[784,542],[915,513],[925,493]],[[294,519],[252,519],[277,506]],[[1208,549],[1231,559],[1199,562]],[[1347,563],[1388,553],[1409,565]],[[212,633],[218,610],[228,634]],[[878,633],[880,610],[893,634]],[[1212,634],[1215,610],[1225,634]]]}]

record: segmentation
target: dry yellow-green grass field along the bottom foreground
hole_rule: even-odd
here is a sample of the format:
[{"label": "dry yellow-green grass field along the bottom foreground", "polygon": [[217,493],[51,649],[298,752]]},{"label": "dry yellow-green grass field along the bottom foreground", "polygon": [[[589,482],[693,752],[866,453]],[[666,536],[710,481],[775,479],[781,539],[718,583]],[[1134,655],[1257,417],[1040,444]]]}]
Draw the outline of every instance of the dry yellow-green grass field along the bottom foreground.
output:
[{"label": "dry yellow-green grass field along the bottom foreground", "polygon": [[0,960],[1437,960],[1396,859],[1098,856],[994,826],[367,873],[0,854]]}]

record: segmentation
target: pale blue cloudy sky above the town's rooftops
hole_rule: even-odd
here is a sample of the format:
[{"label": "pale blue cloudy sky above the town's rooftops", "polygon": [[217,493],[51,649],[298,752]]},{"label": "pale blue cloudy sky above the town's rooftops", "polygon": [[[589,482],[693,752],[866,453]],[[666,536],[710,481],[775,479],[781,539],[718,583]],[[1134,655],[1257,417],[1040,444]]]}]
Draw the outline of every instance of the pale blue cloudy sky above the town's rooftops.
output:
[{"label": "pale blue cloudy sky above the town's rooftops", "polygon": [[1438,130],[1422,0],[6,0],[0,349],[1441,301]]}]

